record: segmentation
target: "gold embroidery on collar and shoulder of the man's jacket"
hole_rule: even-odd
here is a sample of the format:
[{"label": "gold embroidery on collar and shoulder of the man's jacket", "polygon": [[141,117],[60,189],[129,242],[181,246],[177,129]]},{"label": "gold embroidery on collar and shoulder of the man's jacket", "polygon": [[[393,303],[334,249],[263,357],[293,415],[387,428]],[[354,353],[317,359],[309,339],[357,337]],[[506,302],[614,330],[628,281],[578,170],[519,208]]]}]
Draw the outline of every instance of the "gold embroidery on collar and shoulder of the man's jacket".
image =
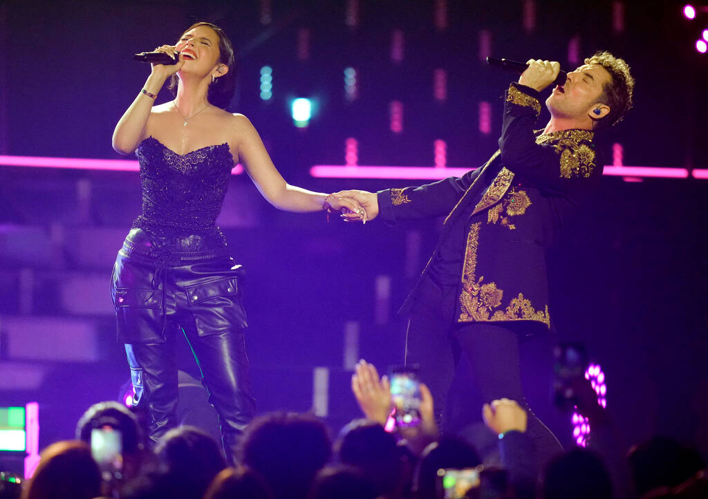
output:
[{"label": "gold embroidery on collar and shoulder of the man's jacket", "polygon": [[561,155],[560,174],[563,178],[588,178],[595,169],[595,150],[590,130],[561,130],[536,137],[537,144],[549,144]]}]

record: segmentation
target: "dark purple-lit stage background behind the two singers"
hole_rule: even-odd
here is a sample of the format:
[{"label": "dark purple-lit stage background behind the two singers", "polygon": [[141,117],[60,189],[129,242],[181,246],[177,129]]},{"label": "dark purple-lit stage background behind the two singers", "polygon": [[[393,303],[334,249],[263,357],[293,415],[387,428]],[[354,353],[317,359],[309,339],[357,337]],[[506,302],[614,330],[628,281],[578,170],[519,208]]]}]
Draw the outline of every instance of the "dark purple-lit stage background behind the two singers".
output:
[{"label": "dark purple-lit stage background behind the two singers", "polygon": [[[446,26],[435,23],[440,5],[447,6]],[[581,57],[602,49],[626,58],[637,81],[636,108],[607,139],[606,164],[619,142],[625,165],[706,168],[708,56],[694,43],[708,17],[689,23],[682,5],[6,1],[0,154],[120,158],[110,147],[113,127],[149,72],[130,56],[206,20],[222,25],[238,52],[230,110],[251,119],[283,176],[305,188],[416,183],[312,178],[314,164],[344,164],[348,137],[358,140],[362,165],[433,166],[436,139],[447,143],[448,166],[483,163],[496,149],[510,81],[481,62],[486,44],[496,57],[556,59],[566,69],[575,65],[569,44]],[[535,23],[526,18],[525,25],[525,8]],[[621,29],[613,25],[618,8]],[[391,56],[394,30],[404,40],[400,62]],[[270,101],[259,96],[265,65],[273,68]],[[357,71],[354,101],[346,98],[346,67]],[[433,96],[435,69],[447,71],[445,101]],[[292,123],[295,97],[318,104],[306,129]],[[157,101],[169,98],[164,90]],[[404,105],[402,132],[390,130],[392,101]],[[490,133],[479,130],[480,102],[491,106]],[[547,113],[540,126],[544,119]],[[0,186],[0,406],[39,401],[45,447],[71,437],[84,409],[116,398],[129,378],[115,343],[108,277],[139,212],[139,178],[0,166]],[[608,410],[627,444],[662,433],[708,451],[707,194],[708,180],[605,177],[602,193],[549,254],[557,332],[525,345],[525,385],[532,407],[565,444],[569,415],[549,403],[549,347],[576,340],[607,373]],[[313,369],[327,367],[332,427],[358,416],[348,368],[358,357],[380,369],[403,360],[405,324],[395,311],[432,251],[440,221],[328,224],[324,214],[278,212],[246,176],[234,176],[219,225],[248,276],[259,409],[308,411]],[[180,355],[194,374],[185,346]],[[462,414],[476,418],[479,411]]]}]

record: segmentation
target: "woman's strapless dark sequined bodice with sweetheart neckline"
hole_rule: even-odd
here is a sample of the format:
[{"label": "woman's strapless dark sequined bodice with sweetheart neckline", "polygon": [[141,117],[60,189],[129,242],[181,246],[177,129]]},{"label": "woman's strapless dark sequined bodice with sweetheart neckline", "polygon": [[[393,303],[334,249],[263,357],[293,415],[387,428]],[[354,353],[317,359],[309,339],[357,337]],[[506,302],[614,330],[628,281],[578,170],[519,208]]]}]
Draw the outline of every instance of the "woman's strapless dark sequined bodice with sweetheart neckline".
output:
[{"label": "woman's strapless dark sequined bodice with sweetheart neckline", "polygon": [[224,238],[215,222],[234,166],[229,144],[177,154],[148,137],[135,154],[140,164],[142,213],[133,228],[164,240],[197,234],[212,240],[210,246],[222,244]]}]

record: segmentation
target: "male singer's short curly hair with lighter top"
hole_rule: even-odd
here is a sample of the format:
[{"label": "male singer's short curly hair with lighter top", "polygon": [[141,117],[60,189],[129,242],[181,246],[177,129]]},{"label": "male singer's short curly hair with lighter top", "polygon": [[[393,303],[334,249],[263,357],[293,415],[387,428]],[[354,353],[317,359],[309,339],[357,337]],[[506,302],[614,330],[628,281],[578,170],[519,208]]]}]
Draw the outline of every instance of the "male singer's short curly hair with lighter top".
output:
[{"label": "male singer's short curly hair with lighter top", "polygon": [[632,108],[634,78],[629,74],[629,64],[610,52],[595,52],[593,57],[585,59],[585,64],[599,64],[610,73],[610,83],[605,84],[600,96],[600,102],[610,106],[610,113],[595,120],[595,130],[617,125]]}]

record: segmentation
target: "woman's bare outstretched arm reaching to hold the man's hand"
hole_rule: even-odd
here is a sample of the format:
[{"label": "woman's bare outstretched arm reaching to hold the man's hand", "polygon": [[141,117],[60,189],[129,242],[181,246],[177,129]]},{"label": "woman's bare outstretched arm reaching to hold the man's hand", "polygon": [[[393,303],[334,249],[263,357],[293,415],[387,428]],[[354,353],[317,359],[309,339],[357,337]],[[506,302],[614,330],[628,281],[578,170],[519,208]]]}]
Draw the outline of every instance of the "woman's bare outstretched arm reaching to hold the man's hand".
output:
[{"label": "woman's bare outstretched arm reaching to hold the man's hand", "polygon": [[246,168],[256,188],[271,205],[287,212],[318,212],[327,209],[325,202],[332,210],[346,208],[350,212],[363,215],[363,210],[353,199],[338,195],[315,193],[312,190],[290,185],[280,175],[280,172],[270,161],[268,151],[263,146],[261,136],[244,115],[234,115],[234,133],[239,148],[239,161]]}]

